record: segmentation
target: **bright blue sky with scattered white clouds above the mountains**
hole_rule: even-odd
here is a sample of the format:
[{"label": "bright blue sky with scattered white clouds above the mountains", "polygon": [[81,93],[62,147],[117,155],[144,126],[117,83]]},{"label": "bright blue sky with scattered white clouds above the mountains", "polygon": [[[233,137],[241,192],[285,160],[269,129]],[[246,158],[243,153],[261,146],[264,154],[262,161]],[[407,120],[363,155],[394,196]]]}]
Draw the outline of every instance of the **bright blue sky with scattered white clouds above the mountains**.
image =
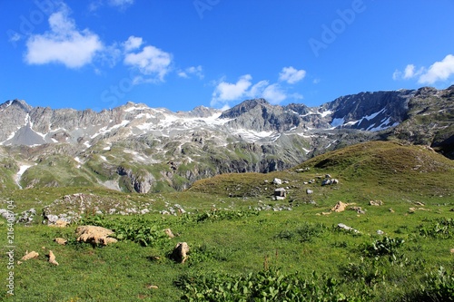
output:
[{"label": "bright blue sky with scattered white clouds above the mountains", "polygon": [[0,102],[318,106],[454,83],[452,0],[0,0]]}]

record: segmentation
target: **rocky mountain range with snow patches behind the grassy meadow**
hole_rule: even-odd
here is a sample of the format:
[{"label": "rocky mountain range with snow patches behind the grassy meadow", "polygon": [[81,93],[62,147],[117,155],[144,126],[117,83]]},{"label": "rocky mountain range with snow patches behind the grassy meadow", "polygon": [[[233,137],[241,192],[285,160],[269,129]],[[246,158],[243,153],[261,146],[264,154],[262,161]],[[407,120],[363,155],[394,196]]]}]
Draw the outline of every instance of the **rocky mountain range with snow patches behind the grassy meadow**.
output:
[{"label": "rocky mountain range with snow patches behind the grassy meadow", "polygon": [[362,141],[428,145],[454,159],[454,85],[357,93],[318,107],[244,101],[171,112],[128,102],[112,110],[0,105],[0,190],[104,186],[184,190],[228,172],[269,172]]}]

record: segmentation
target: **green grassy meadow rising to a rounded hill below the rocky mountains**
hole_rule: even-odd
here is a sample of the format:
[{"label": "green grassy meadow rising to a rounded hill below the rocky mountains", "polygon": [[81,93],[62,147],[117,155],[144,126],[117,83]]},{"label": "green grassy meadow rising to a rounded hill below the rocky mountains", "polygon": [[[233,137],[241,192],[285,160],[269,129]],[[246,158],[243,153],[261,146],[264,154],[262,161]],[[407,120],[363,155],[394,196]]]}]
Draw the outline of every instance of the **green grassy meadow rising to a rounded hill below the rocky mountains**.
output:
[{"label": "green grassy meadow rising to a rounded hill below the rocky mountains", "polygon": [[[322,186],[327,174],[339,182]],[[14,204],[15,212],[35,207],[40,213],[46,206],[69,210],[75,206],[62,200],[74,193],[92,196],[104,212],[119,204],[150,211],[122,216],[87,209],[84,219],[64,229],[45,226],[41,218],[29,226],[17,224],[13,269],[7,268],[5,253],[12,244],[2,219],[5,265],[0,274],[6,278],[14,271],[15,296],[9,297],[3,286],[0,297],[449,301],[454,287],[453,177],[453,161],[434,151],[374,141],[323,154],[291,170],[198,180],[183,192],[125,194],[86,187],[4,192],[0,208]],[[281,185],[273,182],[276,178]],[[271,198],[277,188],[285,188],[285,200]],[[382,205],[372,206],[370,200]],[[331,210],[338,201],[350,205]],[[171,209],[184,213],[163,214]],[[357,231],[341,229],[340,223]],[[78,243],[74,229],[81,224],[114,229],[119,242],[96,248]],[[177,236],[163,236],[167,228]],[[57,245],[56,237],[68,244]],[[190,246],[183,264],[170,257],[178,242]],[[59,266],[47,262],[49,249]],[[26,250],[40,256],[17,265]]]}]

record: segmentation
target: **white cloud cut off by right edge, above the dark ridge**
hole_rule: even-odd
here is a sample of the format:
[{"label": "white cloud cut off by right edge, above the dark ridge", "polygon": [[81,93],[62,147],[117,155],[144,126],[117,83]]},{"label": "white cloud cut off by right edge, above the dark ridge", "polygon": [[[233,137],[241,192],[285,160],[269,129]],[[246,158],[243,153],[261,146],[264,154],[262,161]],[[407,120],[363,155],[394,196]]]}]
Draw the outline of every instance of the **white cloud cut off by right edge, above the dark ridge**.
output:
[{"label": "white cloud cut off by right edge, above the dark ridge", "polygon": [[403,71],[396,69],[392,73],[393,80],[418,79],[420,84],[433,84],[446,81],[454,74],[454,55],[448,54],[443,60],[435,62],[429,68],[408,64]]}]

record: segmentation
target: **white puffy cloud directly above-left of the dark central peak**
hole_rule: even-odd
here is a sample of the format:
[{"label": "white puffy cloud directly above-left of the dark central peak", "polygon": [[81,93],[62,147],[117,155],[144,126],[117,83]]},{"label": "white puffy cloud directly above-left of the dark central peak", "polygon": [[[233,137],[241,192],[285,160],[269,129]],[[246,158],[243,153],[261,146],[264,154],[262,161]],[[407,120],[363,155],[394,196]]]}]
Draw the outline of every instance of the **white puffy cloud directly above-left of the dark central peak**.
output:
[{"label": "white puffy cloud directly above-left of the dark central peak", "polygon": [[240,77],[237,83],[227,83],[224,81],[218,83],[212,93],[211,105],[225,104],[244,97],[248,88],[252,85],[251,80],[251,74],[245,74]]}]

